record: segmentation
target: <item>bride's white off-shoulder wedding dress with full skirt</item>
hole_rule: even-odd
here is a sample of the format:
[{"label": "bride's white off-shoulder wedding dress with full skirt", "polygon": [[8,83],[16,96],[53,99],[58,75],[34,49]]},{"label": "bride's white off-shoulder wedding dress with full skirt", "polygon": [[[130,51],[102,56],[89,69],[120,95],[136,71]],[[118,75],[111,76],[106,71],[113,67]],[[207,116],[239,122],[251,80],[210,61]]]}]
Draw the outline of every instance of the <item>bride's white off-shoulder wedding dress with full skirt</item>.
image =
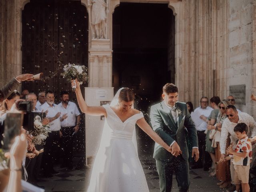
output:
[{"label": "bride's white off-shoulder wedding dress with full skirt", "polygon": [[87,192],[149,192],[134,142],[142,112],[122,122],[109,104],[103,107],[107,118]]}]

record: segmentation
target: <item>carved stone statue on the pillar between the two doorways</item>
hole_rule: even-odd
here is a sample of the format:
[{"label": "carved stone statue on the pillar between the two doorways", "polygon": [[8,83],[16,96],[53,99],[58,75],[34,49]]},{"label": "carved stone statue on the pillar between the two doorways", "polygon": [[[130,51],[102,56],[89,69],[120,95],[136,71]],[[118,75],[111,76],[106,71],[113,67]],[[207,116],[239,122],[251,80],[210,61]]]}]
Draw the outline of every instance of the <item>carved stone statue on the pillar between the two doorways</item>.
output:
[{"label": "carved stone statue on the pillar between the two doorways", "polygon": [[88,0],[88,14],[92,38],[106,39],[106,1]]}]

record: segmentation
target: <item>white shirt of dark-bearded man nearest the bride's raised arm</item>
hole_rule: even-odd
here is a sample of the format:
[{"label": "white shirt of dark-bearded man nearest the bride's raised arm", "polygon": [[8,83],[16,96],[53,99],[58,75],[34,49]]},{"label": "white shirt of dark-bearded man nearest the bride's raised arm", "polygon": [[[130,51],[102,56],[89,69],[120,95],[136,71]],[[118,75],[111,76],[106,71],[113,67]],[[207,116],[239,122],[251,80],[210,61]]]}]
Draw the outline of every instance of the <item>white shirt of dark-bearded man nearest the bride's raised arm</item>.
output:
[{"label": "white shirt of dark-bearded man nearest the bride's raised arm", "polygon": [[61,112],[60,116],[67,114],[67,118],[60,122],[62,127],[73,127],[76,126],[76,116],[80,115],[80,112],[74,102],[69,101],[67,108],[64,108],[62,102],[58,104]]}]

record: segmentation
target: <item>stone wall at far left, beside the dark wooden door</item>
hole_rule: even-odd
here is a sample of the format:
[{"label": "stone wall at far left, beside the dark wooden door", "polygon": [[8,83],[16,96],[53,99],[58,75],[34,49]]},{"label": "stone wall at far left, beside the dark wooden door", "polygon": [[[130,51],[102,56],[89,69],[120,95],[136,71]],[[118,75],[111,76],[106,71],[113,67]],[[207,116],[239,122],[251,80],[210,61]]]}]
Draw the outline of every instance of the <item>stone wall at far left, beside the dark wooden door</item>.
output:
[{"label": "stone wall at far left, beside the dark wooden door", "polygon": [[0,1],[0,86],[21,74],[21,10],[25,2]]}]

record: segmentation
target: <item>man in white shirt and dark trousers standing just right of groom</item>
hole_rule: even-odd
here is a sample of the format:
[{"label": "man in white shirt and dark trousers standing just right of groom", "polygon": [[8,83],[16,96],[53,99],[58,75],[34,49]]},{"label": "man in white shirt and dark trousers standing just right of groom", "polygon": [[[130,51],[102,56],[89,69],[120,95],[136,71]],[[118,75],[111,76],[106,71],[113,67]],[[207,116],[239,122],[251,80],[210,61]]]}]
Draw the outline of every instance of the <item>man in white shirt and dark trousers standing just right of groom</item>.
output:
[{"label": "man in white shirt and dark trousers standing just right of groom", "polygon": [[[192,169],[197,169],[197,168],[202,168],[203,167],[203,159],[205,158],[205,137],[206,134],[204,133],[206,128],[207,128],[207,118],[210,116],[213,108],[208,106],[208,98],[203,96],[200,100],[200,107],[196,108],[194,110],[194,112],[198,112],[200,115],[200,118],[202,120],[204,120],[204,122],[202,122],[199,126],[196,126],[196,132],[197,132],[197,136],[198,136],[198,150],[199,150],[199,160],[198,162],[194,163],[194,166],[192,166]],[[207,159],[210,160],[210,155],[208,155],[209,157]],[[208,160],[207,160],[208,161]],[[206,162],[206,160],[205,160]],[[204,167],[204,170],[209,169],[209,167]]]}]

